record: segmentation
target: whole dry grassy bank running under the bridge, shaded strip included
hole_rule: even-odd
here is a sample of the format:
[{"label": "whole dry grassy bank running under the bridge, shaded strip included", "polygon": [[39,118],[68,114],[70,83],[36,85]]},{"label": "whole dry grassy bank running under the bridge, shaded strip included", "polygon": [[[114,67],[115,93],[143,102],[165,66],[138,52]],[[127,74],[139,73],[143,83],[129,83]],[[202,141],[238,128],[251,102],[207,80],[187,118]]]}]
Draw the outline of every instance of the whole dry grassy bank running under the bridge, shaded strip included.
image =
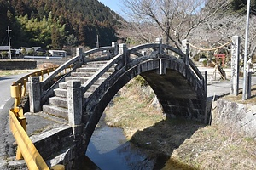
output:
[{"label": "whole dry grassy bank running under the bridge, shaded strip included", "polygon": [[142,82],[133,81],[120,90],[106,110],[106,121],[123,128],[127,139],[137,146],[170,156],[161,169],[172,169],[173,161],[188,165],[177,169],[255,169],[253,139],[233,133],[229,127],[166,120],[152,105],[152,92],[142,87]]}]

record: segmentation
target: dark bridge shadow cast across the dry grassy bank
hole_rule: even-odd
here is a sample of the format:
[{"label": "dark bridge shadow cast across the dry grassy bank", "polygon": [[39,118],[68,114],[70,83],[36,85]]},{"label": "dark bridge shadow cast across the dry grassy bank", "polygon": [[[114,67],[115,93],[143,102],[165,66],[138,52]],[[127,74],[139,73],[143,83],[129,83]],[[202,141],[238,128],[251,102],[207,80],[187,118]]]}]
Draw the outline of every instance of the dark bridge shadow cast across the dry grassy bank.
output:
[{"label": "dark bridge shadow cast across the dry grassy bank", "polygon": [[152,127],[143,129],[143,131],[137,131],[132,136],[131,143],[157,156],[154,169],[162,169],[164,167],[196,169],[195,167],[189,167],[170,160],[170,156],[173,150],[183,144],[185,139],[189,139],[195,131],[205,126],[205,124],[190,120],[164,120],[154,124]]}]

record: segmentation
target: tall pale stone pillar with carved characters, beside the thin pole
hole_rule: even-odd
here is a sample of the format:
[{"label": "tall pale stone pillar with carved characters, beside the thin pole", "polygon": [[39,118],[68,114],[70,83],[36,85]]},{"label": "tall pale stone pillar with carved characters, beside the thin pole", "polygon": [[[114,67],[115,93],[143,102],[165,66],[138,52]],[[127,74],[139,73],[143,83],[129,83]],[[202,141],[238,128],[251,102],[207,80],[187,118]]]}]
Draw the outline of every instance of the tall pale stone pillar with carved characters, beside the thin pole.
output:
[{"label": "tall pale stone pillar with carved characters, beside the thin pole", "polygon": [[240,37],[232,37],[230,94],[234,96],[237,96],[239,92],[240,41]]}]

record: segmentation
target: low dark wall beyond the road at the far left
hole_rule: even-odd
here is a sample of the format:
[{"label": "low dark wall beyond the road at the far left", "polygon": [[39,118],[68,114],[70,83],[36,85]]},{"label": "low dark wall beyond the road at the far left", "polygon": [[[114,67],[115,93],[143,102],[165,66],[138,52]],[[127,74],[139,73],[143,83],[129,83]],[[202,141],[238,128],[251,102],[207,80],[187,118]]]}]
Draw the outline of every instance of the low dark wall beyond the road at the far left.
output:
[{"label": "low dark wall beyond the road at the far left", "polygon": [[0,70],[26,70],[37,68],[37,61],[28,60],[2,60]]}]

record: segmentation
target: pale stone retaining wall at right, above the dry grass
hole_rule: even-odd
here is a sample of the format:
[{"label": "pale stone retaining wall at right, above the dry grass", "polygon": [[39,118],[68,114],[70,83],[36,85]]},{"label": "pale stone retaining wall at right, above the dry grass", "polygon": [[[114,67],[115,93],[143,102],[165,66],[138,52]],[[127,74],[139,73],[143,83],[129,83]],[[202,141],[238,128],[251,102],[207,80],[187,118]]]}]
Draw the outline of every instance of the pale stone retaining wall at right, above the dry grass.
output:
[{"label": "pale stone retaining wall at right, above the dry grass", "polygon": [[218,99],[212,105],[212,125],[230,127],[232,132],[256,139],[256,105]]}]

